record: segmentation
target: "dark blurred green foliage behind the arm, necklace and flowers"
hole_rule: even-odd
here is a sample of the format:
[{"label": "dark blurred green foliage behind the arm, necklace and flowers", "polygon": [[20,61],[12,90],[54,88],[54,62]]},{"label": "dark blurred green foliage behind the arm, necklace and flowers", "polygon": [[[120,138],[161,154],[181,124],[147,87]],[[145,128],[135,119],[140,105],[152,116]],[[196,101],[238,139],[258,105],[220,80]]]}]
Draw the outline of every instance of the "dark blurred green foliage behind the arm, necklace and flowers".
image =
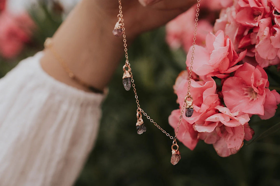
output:
[{"label": "dark blurred green foliage behind the arm, necklace and flowers", "polygon": [[[44,19],[37,16],[38,11],[45,15]],[[45,38],[52,36],[61,22],[60,16],[44,5],[32,10],[31,16],[38,32],[17,58],[0,58],[1,77],[21,59],[42,50]],[[178,108],[172,86],[185,69],[185,58],[183,50],[169,49],[164,27],[141,35],[129,47],[141,107],[171,135],[174,131],[167,119]],[[269,120],[251,118],[249,124],[255,130],[253,142],[244,144],[239,153],[221,158],[212,145],[203,141],[193,151],[179,143],[182,159],[173,166],[172,140],[146,119],[147,132],[136,133],[134,93],[125,91],[122,85],[124,63],[123,59],[109,85],[98,139],[75,186],[280,185],[279,109]],[[279,92],[279,72],[276,67],[267,72],[270,89]]]}]

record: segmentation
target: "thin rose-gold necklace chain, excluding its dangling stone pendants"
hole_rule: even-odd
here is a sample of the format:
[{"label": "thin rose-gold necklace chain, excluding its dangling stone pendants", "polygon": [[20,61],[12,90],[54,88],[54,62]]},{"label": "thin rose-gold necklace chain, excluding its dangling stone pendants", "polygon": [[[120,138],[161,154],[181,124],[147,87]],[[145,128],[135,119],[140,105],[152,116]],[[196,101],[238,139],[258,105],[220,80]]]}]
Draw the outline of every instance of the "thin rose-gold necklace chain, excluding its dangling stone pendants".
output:
[{"label": "thin rose-gold necklace chain, excluding its dangling stone pendants", "polygon": [[121,24],[121,28],[122,28],[122,32],[123,32],[123,46],[124,46],[124,51],[125,51],[125,67],[128,68],[128,71],[130,73],[130,76],[131,76],[131,83],[132,83],[132,87],[133,87],[133,91],[134,91],[134,94],[135,94],[135,99],[136,99],[136,103],[137,103],[137,112],[140,111],[143,113],[144,116],[146,116],[146,118],[148,120],[150,120],[151,123],[153,123],[158,129],[160,129],[166,136],[168,136],[170,139],[173,140],[173,145],[174,144],[177,144],[176,142],[176,138],[177,138],[177,134],[178,134],[178,131],[179,131],[179,127],[181,125],[181,120],[183,118],[183,113],[184,113],[184,109],[186,108],[186,99],[187,98],[191,98],[191,94],[190,94],[190,84],[191,84],[191,79],[192,79],[192,65],[193,65],[193,55],[194,55],[194,50],[195,50],[195,40],[196,40],[196,35],[197,35],[197,21],[198,21],[198,16],[199,16],[199,6],[200,6],[200,0],[197,0],[197,13],[196,13],[196,18],[195,18],[195,31],[194,31],[194,37],[193,37],[193,47],[192,47],[192,57],[191,57],[191,66],[190,66],[190,72],[189,72],[189,81],[188,81],[188,92],[186,94],[186,98],[185,98],[185,101],[183,103],[183,107],[182,107],[182,110],[181,110],[181,115],[179,117],[179,122],[178,122],[178,126],[176,128],[176,132],[175,132],[175,136],[171,136],[169,133],[167,133],[164,129],[162,129],[160,127],[160,125],[158,125],[156,122],[154,122],[153,119],[151,119],[151,117],[146,113],[144,112],[144,110],[140,107],[140,104],[139,104],[139,100],[138,100],[138,96],[137,96],[137,92],[136,92],[136,87],[135,87],[135,84],[134,84],[134,79],[133,79],[133,75],[132,75],[132,71],[131,71],[131,67],[130,67],[130,63],[128,61],[128,54],[127,54],[127,40],[126,40],[126,35],[125,35],[125,27],[124,27],[124,23],[123,23],[123,14],[122,14],[122,3],[121,3],[121,0],[118,0],[119,1],[119,14],[118,14],[118,18],[119,18],[119,21],[120,21],[120,24]]}]

